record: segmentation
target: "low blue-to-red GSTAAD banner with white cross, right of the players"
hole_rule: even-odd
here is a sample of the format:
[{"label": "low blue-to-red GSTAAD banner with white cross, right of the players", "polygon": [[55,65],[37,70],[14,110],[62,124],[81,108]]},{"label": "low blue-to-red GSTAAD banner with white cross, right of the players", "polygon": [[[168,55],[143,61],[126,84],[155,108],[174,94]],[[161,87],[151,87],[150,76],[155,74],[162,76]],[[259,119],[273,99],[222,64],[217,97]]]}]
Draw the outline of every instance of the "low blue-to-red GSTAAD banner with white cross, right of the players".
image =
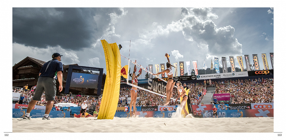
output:
[{"label": "low blue-to-red GSTAAD banner with white cross, right of the players", "polygon": [[[246,110],[218,110],[218,118],[242,118],[242,117],[274,117],[273,109],[246,109]],[[213,118],[213,111],[207,110],[203,118]]]}]

